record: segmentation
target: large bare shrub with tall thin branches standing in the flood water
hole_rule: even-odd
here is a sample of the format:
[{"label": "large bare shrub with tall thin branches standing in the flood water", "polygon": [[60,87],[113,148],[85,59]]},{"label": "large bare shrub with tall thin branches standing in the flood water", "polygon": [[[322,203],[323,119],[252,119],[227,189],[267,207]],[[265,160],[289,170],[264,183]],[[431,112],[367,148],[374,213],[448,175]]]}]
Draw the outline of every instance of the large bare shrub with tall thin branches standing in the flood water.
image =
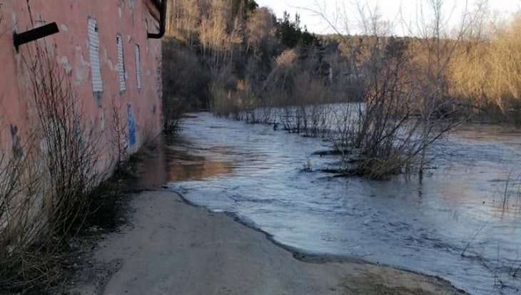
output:
[{"label": "large bare shrub with tall thin branches standing in the flood water", "polygon": [[[314,12],[328,21],[318,7]],[[356,2],[356,7],[363,36],[337,33],[345,55],[344,71],[361,86],[363,99],[358,110],[347,108],[335,116],[333,130],[338,135],[329,136],[335,148],[348,157],[345,172],[350,175],[381,179],[418,168],[421,180],[425,163],[432,159],[428,148],[465,120],[458,117],[457,100],[447,87],[447,72],[472,19],[465,11],[460,28],[448,35],[443,1],[432,0],[418,11],[418,32],[410,32],[419,33],[419,38],[395,38],[378,6],[370,9],[368,4]],[[348,31],[350,21],[340,15],[341,7],[338,11]],[[335,29],[334,22],[328,24]]]}]

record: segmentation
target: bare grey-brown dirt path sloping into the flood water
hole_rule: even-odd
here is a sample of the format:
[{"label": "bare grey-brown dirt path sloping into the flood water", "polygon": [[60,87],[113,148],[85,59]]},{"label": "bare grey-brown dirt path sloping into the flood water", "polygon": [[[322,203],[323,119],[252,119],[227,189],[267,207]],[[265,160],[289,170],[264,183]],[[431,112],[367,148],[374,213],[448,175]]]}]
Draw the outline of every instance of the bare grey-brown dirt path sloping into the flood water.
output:
[{"label": "bare grey-brown dirt path sloping into the flood water", "polygon": [[302,262],[171,192],[133,198],[131,226],[101,242],[76,294],[461,294],[447,281],[356,262]]}]

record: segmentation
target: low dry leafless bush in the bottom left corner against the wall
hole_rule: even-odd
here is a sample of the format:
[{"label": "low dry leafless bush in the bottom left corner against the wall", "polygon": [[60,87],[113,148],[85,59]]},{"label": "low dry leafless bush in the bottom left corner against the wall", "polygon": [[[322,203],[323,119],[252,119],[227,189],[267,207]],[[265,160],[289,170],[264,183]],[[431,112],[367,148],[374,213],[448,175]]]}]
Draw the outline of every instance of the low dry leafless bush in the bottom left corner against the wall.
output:
[{"label": "low dry leafless bush in the bottom left corner against the wall", "polygon": [[36,291],[59,276],[41,198],[44,187],[34,145],[28,141],[0,160],[0,292]]}]

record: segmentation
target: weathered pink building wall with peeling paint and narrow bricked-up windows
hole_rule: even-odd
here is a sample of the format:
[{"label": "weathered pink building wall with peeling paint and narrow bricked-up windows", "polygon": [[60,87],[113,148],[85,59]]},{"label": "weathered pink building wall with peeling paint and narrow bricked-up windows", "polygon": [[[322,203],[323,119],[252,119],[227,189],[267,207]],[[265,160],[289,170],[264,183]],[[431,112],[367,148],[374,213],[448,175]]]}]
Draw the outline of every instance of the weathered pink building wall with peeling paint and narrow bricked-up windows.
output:
[{"label": "weathered pink building wall with peeling paint and narrow bricked-up windows", "polygon": [[[111,147],[112,102],[121,106],[123,123],[128,122],[130,103],[136,120],[136,145],[138,149],[145,129],[158,134],[161,128],[161,87],[158,73],[161,63],[161,41],[148,39],[147,32],[155,33],[157,20],[151,14],[154,6],[150,0],[0,0],[0,149],[9,150],[13,143],[11,125],[22,141],[29,132],[31,97],[28,93],[24,59],[31,58],[31,43],[22,45],[16,53],[13,31],[19,33],[41,24],[56,22],[60,32],[45,38],[56,54],[56,61],[63,66],[81,101],[84,113],[91,120],[98,120],[96,128],[109,153]],[[157,14],[157,11],[153,11]],[[32,16],[32,21],[31,17]],[[88,51],[88,18],[96,19],[100,41],[101,77],[103,95],[99,102],[94,97]],[[116,34],[123,39],[123,55],[126,70],[126,91],[119,92],[118,56]],[[141,51],[142,89],[136,82],[134,44]],[[17,129],[17,130],[16,130]],[[113,155],[112,155],[113,156]]]}]

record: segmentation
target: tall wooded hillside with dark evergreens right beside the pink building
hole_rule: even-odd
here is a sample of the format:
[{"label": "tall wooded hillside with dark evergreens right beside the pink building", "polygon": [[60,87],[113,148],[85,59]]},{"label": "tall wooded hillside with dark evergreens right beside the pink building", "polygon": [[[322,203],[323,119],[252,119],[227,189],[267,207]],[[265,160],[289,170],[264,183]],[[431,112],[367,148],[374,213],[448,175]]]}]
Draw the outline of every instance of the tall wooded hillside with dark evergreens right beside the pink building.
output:
[{"label": "tall wooded hillside with dark evergreens right beside the pink building", "polygon": [[[163,43],[167,118],[178,105],[227,115],[290,100],[296,73],[325,83],[328,62],[320,38],[300,16],[273,11],[253,0],[173,1]],[[302,79],[300,79],[302,80]],[[176,120],[165,120],[175,125]]]}]

